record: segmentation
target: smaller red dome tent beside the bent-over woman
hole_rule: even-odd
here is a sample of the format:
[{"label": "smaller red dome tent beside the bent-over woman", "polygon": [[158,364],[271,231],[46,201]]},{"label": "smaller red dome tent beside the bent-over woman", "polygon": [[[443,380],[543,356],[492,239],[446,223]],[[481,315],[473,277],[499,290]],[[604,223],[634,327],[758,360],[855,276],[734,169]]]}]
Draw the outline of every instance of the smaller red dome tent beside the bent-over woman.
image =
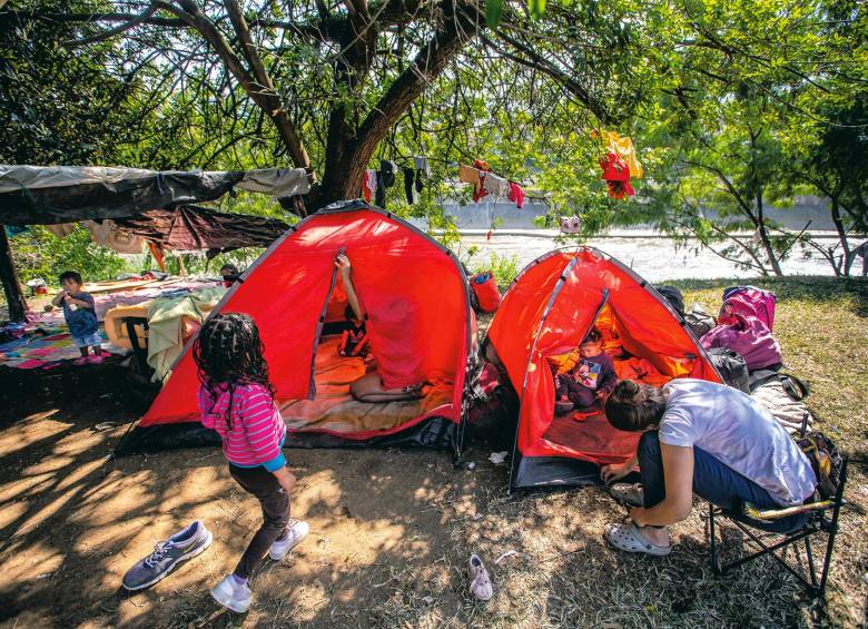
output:
[{"label": "smaller red dome tent beside the bent-over woman", "polygon": [[489,340],[520,395],[510,487],[599,482],[599,466],[628,461],[639,434],[600,411],[554,414],[552,363],[596,325],[619,377],[662,385],[673,377],[722,382],[683,318],[653,286],[606,254],[581,247],[527,265],[503,296]]}]

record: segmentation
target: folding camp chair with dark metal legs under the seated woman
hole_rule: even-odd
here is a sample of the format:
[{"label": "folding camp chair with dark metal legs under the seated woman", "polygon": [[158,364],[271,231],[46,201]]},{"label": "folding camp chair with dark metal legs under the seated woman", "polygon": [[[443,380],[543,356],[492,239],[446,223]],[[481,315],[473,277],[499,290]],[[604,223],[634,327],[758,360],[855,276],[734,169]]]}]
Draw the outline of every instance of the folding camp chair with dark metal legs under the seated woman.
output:
[{"label": "folding camp chair with dark metal legs under the seated woman", "polygon": [[[820,606],[822,606],[826,596],[826,583],[829,577],[829,568],[831,567],[832,550],[835,549],[835,538],[838,534],[838,515],[840,514],[841,507],[844,507],[847,503],[847,501],[844,500],[844,485],[846,480],[847,480],[847,458],[845,456],[842,458],[842,463],[838,475],[838,490],[835,493],[835,498],[831,500],[821,500],[812,503],[809,502],[800,507],[791,507],[788,509],[780,509],[776,511],[762,511],[762,512],[754,511],[752,512],[752,518],[747,518],[744,514],[732,513],[719,507],[714,507],[713,504],[709,504],[709,527],[711,533],[710,534],[711,563],[714,572],[717,572],[718,574],[722,574],[732,568],[736,568],[738,566],[741,566],[749,561],[753,561],[754,559],[768,554],[770,557],[773,557],[775,560],[778,561],[778,563],[783,566],[790,573],[792,573],[799,581],[801,581],[802,584],[806,587],[808,594],[811,598],[818,599]],[[767,543],[767,540],[763,540],[762,537],[760,537],[759,534],[757,534],[757,532],[754,532],[756,530],[762,531],[763,521],[768,522],[776,518],[791,515],[795,513],[806,513],[807,520],[801,527],[799,527],[796,530],[788,531],[786,533],[771,533],[783,538],[778,543],[773,543],[769,546]],[[761,519],[757,518],[758,515],[761,517]],[[754,542],[761,550],[753,552],[752,554],[742,557],[730,563],[722,563],[718,551],[717,530],[716,530],[717,518],[729,519],[739,529],[741,529],[742,532],[744,532],[748,535],[749,541]],[[822,563],[820,564],[820,573],[818,579],[817,563],[815,561],[813,549],[811,548],[810,540],[813,535],[820,532],[827,533],[828,540],[826,541],[826,552],[822,556]],[[799,566],[797,567],[798,568],[797,569],[790,566],[789,563],[787,563],[786,561],[787,548],[790,546],[792,546],[797,550],[796,557],[798,558],[799,547],[797,544],[802,540],[805,541],[805,551],[806,551],[806,557],[808,559],[807,574],[803,567]],[[778,550],[782,550],[780,556],[777,553]]]}]

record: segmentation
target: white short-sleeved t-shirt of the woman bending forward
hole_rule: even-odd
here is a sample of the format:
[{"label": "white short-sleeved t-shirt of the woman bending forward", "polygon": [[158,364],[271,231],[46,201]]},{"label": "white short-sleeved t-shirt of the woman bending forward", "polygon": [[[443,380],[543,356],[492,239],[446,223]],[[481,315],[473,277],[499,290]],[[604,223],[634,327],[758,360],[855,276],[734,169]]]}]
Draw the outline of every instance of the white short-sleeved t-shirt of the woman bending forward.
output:
[{"label": "white short-sleeved t-shirt of the woman bending forward", "polygon": [[679,379],[663,387],[661,443],[696,446],[765,489],[783,507],[801,504],[817,478],[798,444],[758,402],[731,386]]}]

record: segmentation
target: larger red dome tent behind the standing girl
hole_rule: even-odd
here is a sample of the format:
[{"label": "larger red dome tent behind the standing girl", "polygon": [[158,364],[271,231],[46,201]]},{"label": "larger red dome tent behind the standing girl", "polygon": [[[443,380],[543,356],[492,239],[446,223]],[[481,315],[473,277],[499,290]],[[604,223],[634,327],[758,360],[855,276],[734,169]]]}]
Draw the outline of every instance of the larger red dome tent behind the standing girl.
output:
[{"label": "larger red dome tent behind the standing girl", "polygon": [[[339,356],[339,335],[324,333],[344,321],[346,296],[334,264],[341,252],[353,263],[374,355],[397,344],[421,361],[430,383],[422,400],[351,397],[365,361]],[[247,313],[257,322],[287,446],[460,449],[475,327],[466,277],[452,252],[391,213],[363,202],[320,209],[276,240],[214,312]],[[219,443],[199,423],[191,344],[119,452]]]}]

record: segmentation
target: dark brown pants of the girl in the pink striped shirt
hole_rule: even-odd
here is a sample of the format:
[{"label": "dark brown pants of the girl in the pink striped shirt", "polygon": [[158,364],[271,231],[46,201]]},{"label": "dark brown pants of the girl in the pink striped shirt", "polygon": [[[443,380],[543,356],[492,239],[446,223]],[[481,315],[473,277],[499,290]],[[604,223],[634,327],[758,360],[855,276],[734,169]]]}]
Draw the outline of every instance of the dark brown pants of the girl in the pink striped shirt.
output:
[{"label": "dark brown pants of the girl in the pink striped shirt", "polygon": [[274,541],[286,532],[289,523],[289,497],[272,472],[258,465],[239,468],[229,464],[229,473],[247,493],[256,497],[263,508],[263,525],[247,544],[235,574],[248,579],[263,564]]}]

